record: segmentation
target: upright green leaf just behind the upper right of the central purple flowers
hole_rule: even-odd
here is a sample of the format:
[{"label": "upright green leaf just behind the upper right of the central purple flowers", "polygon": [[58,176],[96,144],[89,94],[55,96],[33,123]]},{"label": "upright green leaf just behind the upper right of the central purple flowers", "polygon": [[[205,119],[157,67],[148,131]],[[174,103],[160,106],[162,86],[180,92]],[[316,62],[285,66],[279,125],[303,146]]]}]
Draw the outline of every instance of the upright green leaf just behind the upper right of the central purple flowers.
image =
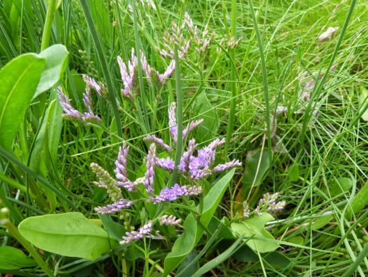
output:
[{"label": "upright green leaf just behind the upper right of the central purple flowers", "polygon": [[208,141],[216,136],[219,127],[216,111],[208,101],[206,93],[201,93],[195,103],[199,118],[203,118],[201,125],[196,128],[196,137],[201,138],[201,141]]}]

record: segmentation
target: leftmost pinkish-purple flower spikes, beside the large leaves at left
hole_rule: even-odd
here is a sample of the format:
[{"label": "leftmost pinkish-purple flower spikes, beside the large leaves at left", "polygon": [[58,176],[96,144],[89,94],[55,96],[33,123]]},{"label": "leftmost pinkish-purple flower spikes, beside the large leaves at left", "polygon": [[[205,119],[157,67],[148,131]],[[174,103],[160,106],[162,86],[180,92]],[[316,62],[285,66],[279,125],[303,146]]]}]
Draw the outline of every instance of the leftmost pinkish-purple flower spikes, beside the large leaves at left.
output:
[{"label": "leftmost pinkish-purple flower spikes, beside the large leaves at left", "polygon": [[105,88],[97,84],[97,82],[94,81],[94,79],[92,79],[91,77],[87,77],[86,75],[83,75],[83,80],[85,81],[86,84],[85,93],[83,93],[83,104],[87,108],[87,111],[85,113],[81,113],[80,111],[74,109],[72,104],[70,104],[69,98],[67,97],[67,95],[65,95],[64,91],[62,90],[62,87],[59,86],[58,99],[60,105],[62,106],[62,109],[65,112],[62,115],[62,117],[65,119],[78,120],[85,123],[101,122],[101,118],[95,115],[92,111],[91,89],[95,90],[99,95],[102,95]]}]

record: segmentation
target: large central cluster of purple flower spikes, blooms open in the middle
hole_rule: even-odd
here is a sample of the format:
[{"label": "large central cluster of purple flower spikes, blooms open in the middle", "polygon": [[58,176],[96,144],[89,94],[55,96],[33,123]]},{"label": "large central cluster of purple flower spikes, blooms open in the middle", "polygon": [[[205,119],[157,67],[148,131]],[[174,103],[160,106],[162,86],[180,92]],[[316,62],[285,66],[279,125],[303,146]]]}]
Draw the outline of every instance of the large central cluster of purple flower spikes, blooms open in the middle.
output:
[{"label": "large central cluster of purple flower spikes, blooms open in the middle", "polygon": [[[115,203],[107,205],[105,207],[95,208],[96,212],[99,214],[112,214],[115,212],[122,212],[123,209],[131,207],[137,201],[146,201],[153,205],[160,203],[172,202],[179,200],[185,196],[199,196],[203,193],[203,188],[198,182],[203,177],[225,171],[229,168],[235,166],[241,166],[240,161],[233,160],[225,164],[215,164],[216,149],[224,144],[224,139],[215,139],[210,144],[196,150],[198,145],[194,139],[190,139],[188,142],[187,150],[183,153],[181,161],[178,165],[178,172],[180,175],[180,180],[185,182],[185,184],[174,184],[172,187],[165,187],[163,189],[155,187],[155,168],[156,166],[162,168],[165,171],[174,171],[174,160],[172,157],[167,156],[165,158],[159,158],[156,155],[156,145],[159,145],[162,150],[165,150],[168,155],[172,155],[173,149],[176,148],[178,128],[176,127],[176,104],[172,103],[169,105],[168,109],[169,117],[169,134],[172,136],[172,146],[165,143],[162,139],[159,139],[155,135],[147,135],[144,138],[145,141],[151,143],[147,153],[146,160],[146,173],[144,177],[137,178],[135,182],[128,179],[127,171],[127,161],[128,161],[128,150],[129,147],[124,143],[124,145],[119,148],[119,154],[117,160],[115,161],[115,174],[117,180],[112,180],[110,175],[106,174],[102,168],[97,167],[96,164],[92,164],[94,171],[97,172],[97,177],[99,177],[99,187],[106,187],[107,185],[101,186],[101,184],[108,183],[110,185],[115,185],[117,188],[123,187],[127,191],[137,191],[140,192],[142,198],[139,200],[127,200],[124,198],[119,198]],[[192,121],[187,125],[185,131],[185,137],[190,134],[203,120]],[[97,171],[98,168],[98,171]],[[143,184],[143,186],[141,186]],[[112,191],[112,189],[110,189]],[[155,192],[158,192],[157,194]],[[151,233],[151,229],[156,221],[149,221],[146,225],[140,228],[138,231],[127,232],[124,236],[121,244],[128,244],[138,239],[142,239],[146,235]],[[159,220],[160,223],[165,225],[177,225],[180,221],[175,217],[162,217]]]}]

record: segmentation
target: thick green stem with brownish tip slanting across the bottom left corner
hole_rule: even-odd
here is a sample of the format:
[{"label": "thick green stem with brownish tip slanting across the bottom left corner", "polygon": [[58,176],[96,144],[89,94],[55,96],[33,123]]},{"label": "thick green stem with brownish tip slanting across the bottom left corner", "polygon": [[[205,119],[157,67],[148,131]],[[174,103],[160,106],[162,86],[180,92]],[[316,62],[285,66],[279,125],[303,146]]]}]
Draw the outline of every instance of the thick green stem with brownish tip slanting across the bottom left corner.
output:
[{"label": "thick green stem with brownish tip slanting across the bottom left corner", "polygon": [[8,214],[8,209],[3,208],[0,212],[0,223],[1,225],[5,225],[5,227],[8,229],[12,237],[17,239],[17,241],[22,244],[24,248],[26,248],[26,251],[28,251],[33,259],[37,262],[37,264],[44,270],[44,272],[47,274],[47,276],[54,276],[53,271],[49,268],[49,265],[42,259],[40,253],[38,253],[35,248],[33,248],[33,245],[28,242],[19,232],[18,228],[10,221],[10,219],[6,218]]}]

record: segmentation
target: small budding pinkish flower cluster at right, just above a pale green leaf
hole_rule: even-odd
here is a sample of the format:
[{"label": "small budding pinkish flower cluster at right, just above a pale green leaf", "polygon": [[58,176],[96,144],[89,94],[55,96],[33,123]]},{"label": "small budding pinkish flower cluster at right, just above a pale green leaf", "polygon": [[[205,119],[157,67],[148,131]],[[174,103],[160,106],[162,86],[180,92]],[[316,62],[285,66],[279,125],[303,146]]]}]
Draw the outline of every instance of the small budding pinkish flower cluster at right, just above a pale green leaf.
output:
[{"label": "small budding pinkish flower cluster at right, just above a pale green leaf", "polygon": [[[258,206],[254,209],[254,214],[257,216],[262,216],[262,212],[271,212],[276,213],[285,208],[286,201],[276,202],[277,198],[280,196],[280,193],[276,192],[273,194],[265,193],[263,197],[259,200]],[[243,203],[243,216],[249,217],[251,211],[249,209],[248,203]]]}]

